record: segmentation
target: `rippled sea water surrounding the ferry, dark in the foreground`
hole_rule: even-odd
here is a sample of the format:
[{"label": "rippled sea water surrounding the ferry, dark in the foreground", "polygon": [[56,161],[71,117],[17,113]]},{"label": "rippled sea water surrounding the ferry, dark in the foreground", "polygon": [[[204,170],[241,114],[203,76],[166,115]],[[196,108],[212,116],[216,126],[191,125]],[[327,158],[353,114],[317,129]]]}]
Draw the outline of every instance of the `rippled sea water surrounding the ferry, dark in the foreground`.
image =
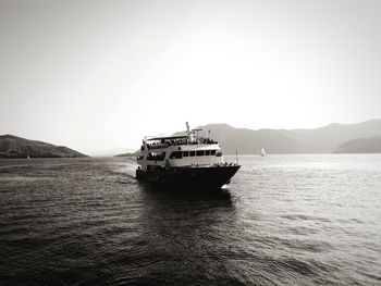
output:
[{"label": "rippled sea water surrounding the ferry, dark in the foreground", "polygon": [[189,191],[128,158],[0,160],[0,285],[381,285],[381,154],[238,162]]}]

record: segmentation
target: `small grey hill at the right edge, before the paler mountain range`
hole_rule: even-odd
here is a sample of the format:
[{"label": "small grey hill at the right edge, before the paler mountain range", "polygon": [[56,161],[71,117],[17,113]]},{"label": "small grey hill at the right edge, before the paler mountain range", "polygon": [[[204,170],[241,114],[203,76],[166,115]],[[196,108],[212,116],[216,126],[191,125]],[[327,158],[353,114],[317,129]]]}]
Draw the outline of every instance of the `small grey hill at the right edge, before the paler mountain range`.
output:
[{"label": "small grey hill at the right edge, before the paler mountain range", "polygon": [[346,141],[339,146],[336,153],[381,153],[381,136]]}]

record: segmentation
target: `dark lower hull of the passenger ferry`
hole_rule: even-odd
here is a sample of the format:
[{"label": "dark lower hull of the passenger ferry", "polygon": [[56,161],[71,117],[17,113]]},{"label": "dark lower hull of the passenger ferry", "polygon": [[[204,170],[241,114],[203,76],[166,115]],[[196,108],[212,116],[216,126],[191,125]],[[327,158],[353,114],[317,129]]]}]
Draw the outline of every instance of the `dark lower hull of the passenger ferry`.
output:
[{"label": "dark lower hull of the passenger ferry", "polygon": [[146,182],[181,188],[221,188],[238,171],[239,165],[209,167],[159,167],[136,170],[136,177]]}]

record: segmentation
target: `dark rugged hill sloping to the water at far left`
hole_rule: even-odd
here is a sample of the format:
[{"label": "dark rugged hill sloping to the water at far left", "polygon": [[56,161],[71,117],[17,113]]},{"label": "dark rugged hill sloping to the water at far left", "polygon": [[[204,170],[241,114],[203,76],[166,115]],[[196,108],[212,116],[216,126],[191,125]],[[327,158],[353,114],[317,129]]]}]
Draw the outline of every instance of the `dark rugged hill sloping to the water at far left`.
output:
[{"label": "dark rugged hill sloping to the water at far left", "polygon": [[0,136],[0,158],[82,158],[87,157],[65,146],[28,140],[13,135]]}]

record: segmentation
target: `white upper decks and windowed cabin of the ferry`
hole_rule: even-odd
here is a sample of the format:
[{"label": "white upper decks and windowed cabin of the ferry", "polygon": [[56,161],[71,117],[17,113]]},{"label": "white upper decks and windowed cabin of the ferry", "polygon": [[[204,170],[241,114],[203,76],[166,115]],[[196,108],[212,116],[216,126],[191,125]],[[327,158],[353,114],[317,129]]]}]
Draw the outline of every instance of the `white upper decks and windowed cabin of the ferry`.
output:
[{"label": "white upper decks and windowed cabin of the ferry", "polygon": [[137,163],[147,167],[202,167],[223,164],[219,144],[188,132],[184,136],[144,139]]}]

